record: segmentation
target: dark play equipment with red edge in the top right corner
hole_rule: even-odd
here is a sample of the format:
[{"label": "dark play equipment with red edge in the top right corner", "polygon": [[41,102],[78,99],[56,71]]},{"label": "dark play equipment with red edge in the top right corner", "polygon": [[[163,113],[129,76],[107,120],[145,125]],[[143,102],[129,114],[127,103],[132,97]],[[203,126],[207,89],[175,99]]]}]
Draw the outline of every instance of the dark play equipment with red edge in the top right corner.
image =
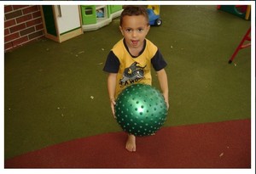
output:
[{"label": "dark play equipment with red edge in the top right corner", "polygon": [[250,5],[218,5],[217,9],[221,9],[230,14],[235,14],[245,20],[249,20],[251,17]]}]

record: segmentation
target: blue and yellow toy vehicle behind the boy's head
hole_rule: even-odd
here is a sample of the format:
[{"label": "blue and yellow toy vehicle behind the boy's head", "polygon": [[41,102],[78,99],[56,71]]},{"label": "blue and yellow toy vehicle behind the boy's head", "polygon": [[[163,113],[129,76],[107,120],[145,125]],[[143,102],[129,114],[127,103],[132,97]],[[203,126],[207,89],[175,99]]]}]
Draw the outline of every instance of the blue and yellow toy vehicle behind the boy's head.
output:
[{"label": "blue and yellow toy vehicle behind the boy's head", "polygon": [[160,5],[148,5],[147,8],[149,25],[160,26],[162,20],[160,20]]}]

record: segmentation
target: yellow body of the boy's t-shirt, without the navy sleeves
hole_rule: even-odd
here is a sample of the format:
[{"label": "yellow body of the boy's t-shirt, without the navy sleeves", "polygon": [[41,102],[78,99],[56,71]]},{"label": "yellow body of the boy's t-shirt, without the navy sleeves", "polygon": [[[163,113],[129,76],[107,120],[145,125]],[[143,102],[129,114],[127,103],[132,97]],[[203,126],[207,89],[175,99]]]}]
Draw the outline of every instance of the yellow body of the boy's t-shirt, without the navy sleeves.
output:
[{"label": "yellow body of the boy's t-shirt, without the navy sleeves", "polygon": [[117,98],[119,93],[127,86],[134,83],[144,83],[151,85],[151,59],[157,52],[158,48],[154,43],[146,39],[146,46],[136,58],[133,58],[131,54],[125,48],[123,39],[117,42],[113,46],[113,53],[119,59],[119,71],[117,73],[117,84],[115,97]]}]

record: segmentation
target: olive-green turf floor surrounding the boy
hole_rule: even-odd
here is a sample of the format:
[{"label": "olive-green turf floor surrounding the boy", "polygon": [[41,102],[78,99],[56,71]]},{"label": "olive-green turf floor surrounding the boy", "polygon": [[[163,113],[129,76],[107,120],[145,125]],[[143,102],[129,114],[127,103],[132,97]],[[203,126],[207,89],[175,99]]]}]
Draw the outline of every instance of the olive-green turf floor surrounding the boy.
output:
[{"label": "olive-green turf floor surrounding the boy", "polygon": [[[168,66],[165,126],[251,116],[251,49],[228,60],[250,21],[216,6],[161,6],[148,39]],[[107,132],[120,132],[102,71],[121,38],[119,19],[66,42],[32,42],[4,53],[4,158]],[[154,86],[159,87],[153,71]]]}]

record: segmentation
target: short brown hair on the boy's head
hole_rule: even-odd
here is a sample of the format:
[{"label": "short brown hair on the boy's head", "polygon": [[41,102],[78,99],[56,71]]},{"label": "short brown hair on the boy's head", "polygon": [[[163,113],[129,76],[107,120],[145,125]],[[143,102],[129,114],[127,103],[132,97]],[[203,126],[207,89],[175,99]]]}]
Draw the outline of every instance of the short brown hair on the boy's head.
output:
[{"label": "short brown hair on the boy's head", "polygon": [[[124,11],[122,12],[120,16],[120,26],[123,24],[123,18],[128,15],[128,16],[138,16],[138,15],[143,15],[146,20],[148,21],[148,12],[146,8],[143,6],[126,6]],[[148,23],[149,25],[149,23]]]}]

